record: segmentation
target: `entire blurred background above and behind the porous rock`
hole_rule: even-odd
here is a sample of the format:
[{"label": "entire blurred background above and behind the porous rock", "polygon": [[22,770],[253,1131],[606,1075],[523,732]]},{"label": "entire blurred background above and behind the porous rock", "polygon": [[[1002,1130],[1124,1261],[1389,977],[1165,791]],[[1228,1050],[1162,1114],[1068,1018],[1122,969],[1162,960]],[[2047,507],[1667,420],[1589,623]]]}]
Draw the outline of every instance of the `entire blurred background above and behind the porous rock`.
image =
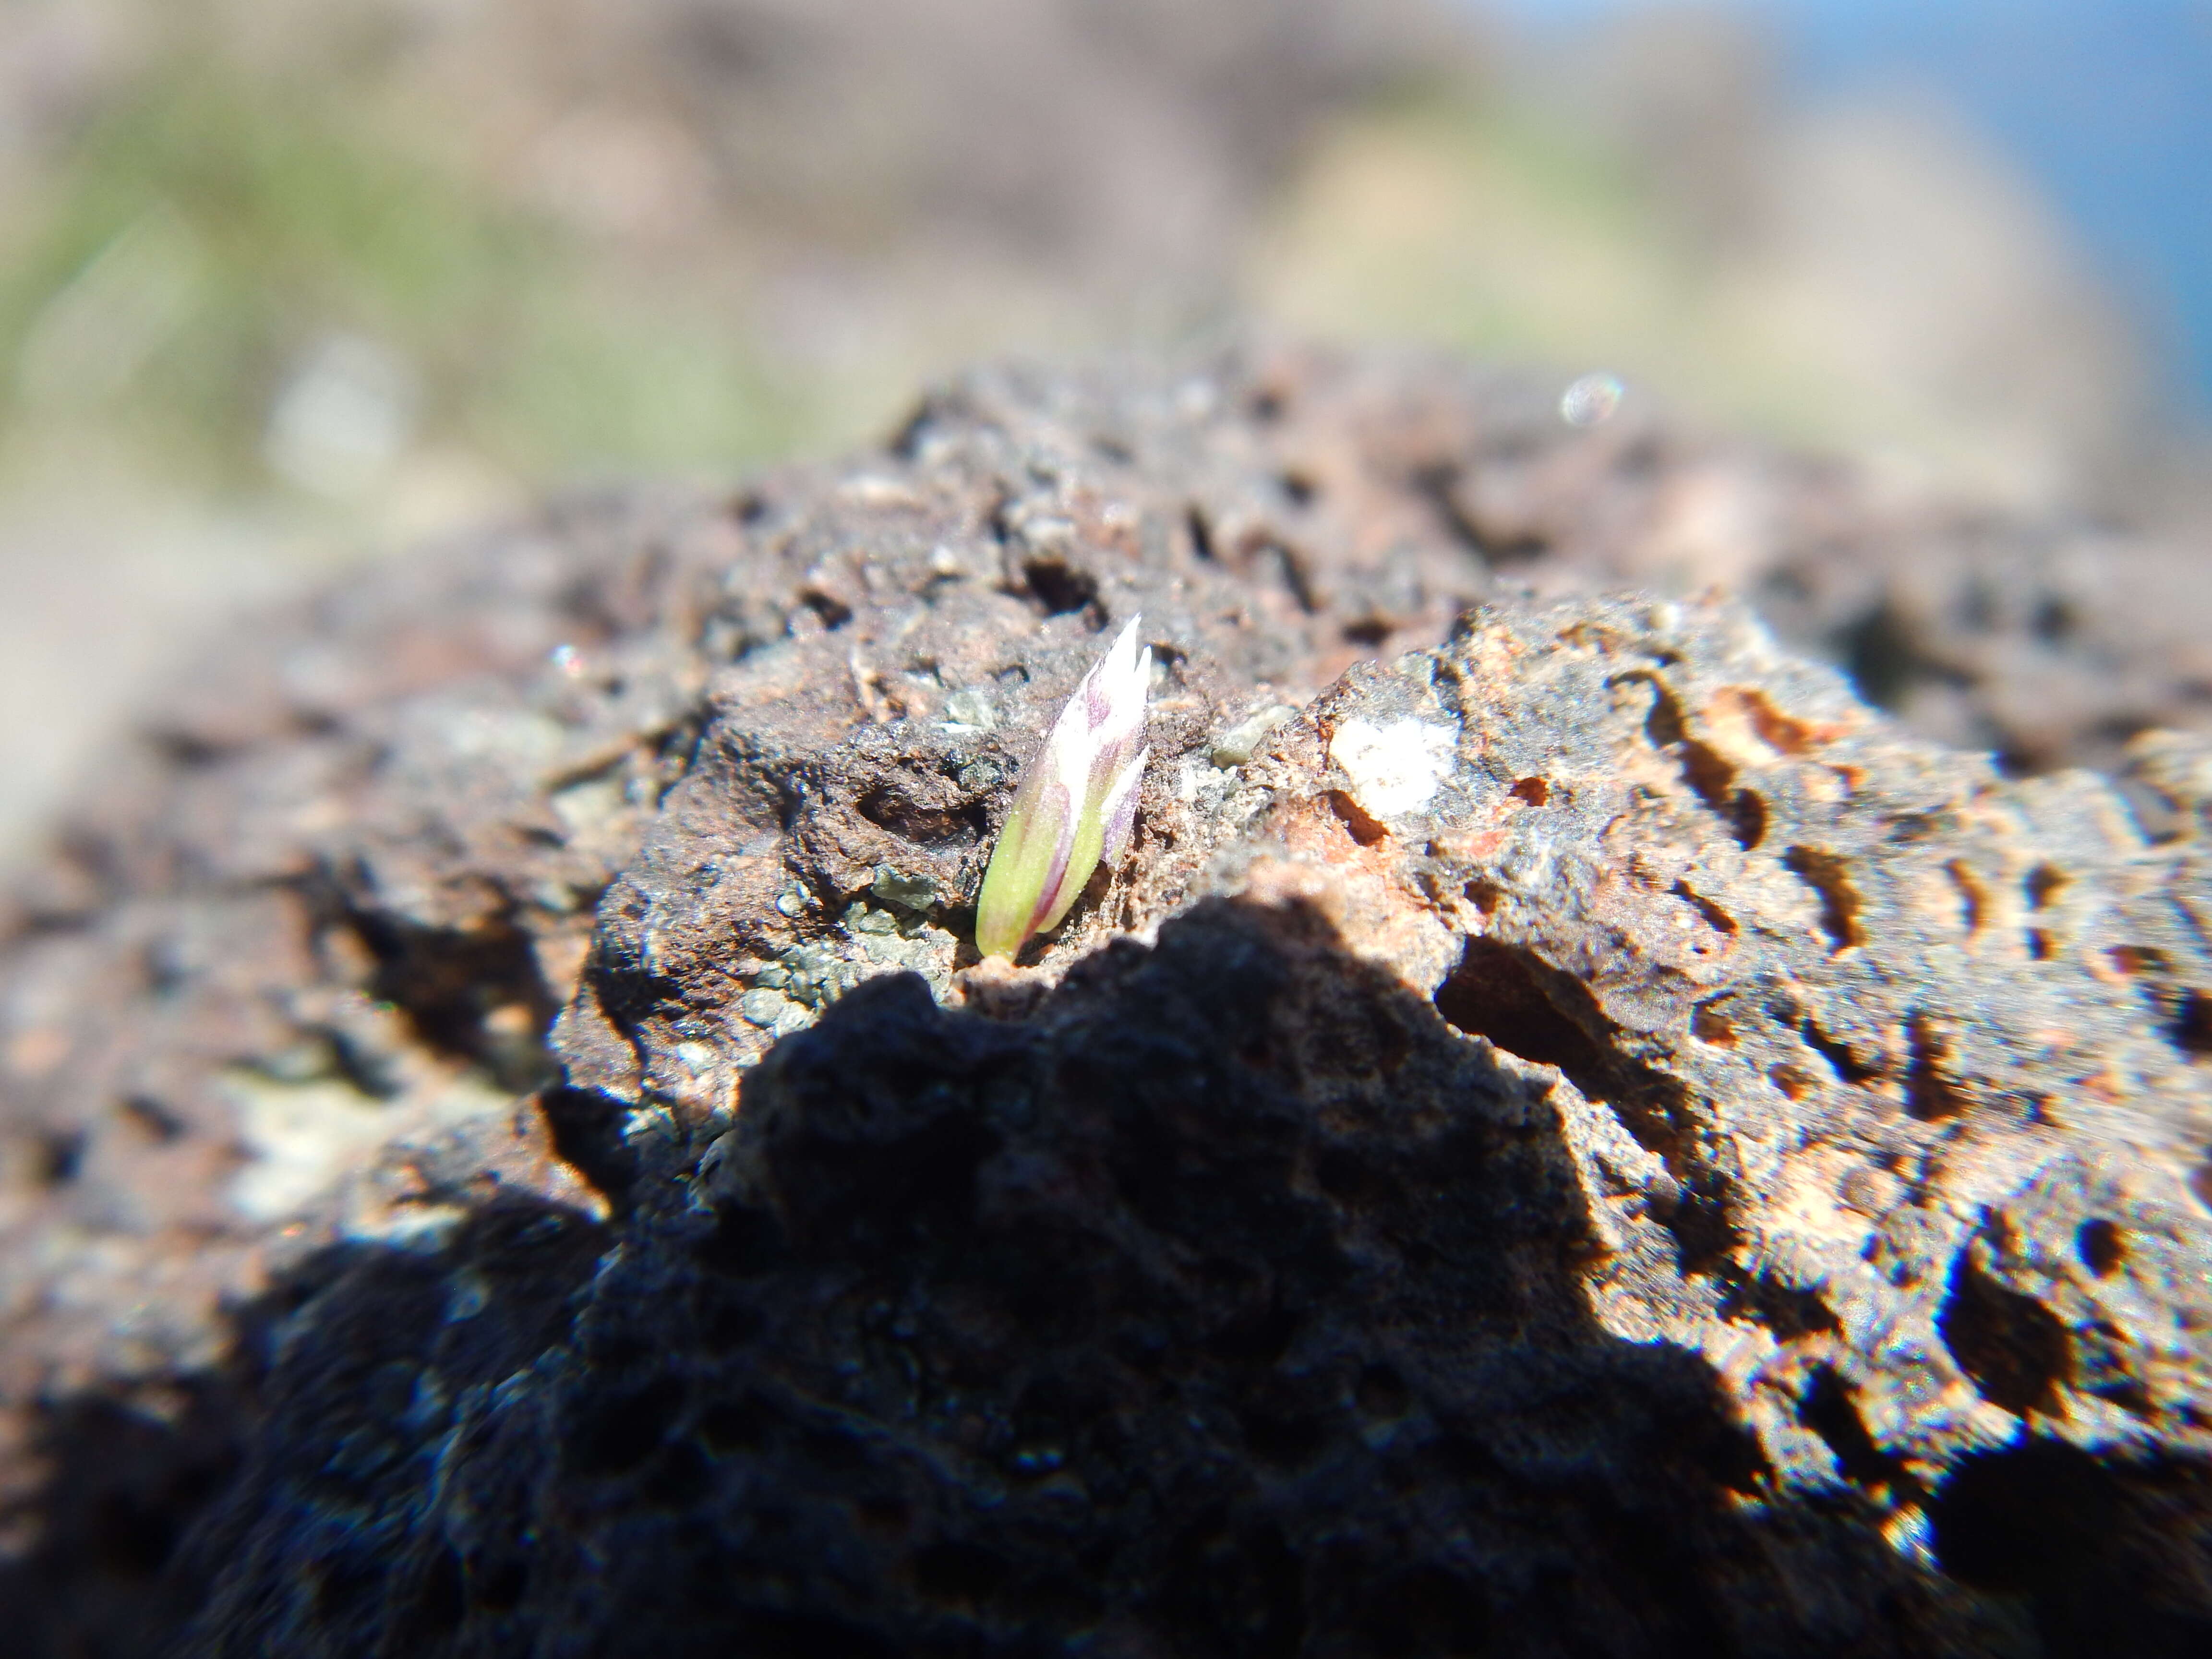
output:
[{"label": "entire blurred background above and behind the porous rock", "polygon": [[2212,0],[0,0],[0,860],[349,560],[1256,321],[2212,542]]}]

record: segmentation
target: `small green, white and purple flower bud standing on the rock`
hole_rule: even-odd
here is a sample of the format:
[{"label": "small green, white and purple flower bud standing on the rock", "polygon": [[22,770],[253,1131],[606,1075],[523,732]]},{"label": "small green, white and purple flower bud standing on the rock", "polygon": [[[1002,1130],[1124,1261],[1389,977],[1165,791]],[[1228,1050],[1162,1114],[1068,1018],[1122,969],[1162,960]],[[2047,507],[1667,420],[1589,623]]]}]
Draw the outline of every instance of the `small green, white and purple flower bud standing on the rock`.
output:
[{"label": "small green, white and purple flower bud standing on the rock", "polygon": [[1110,865],[1121,856],[1152,754],[1139,748],[1150,688],[1152,648],[1137,650],[1130,617],[1022,774],[975,902],[975,949],[984,956],[1013,960],[1031,933],[1060,925],[1102,858]]}]

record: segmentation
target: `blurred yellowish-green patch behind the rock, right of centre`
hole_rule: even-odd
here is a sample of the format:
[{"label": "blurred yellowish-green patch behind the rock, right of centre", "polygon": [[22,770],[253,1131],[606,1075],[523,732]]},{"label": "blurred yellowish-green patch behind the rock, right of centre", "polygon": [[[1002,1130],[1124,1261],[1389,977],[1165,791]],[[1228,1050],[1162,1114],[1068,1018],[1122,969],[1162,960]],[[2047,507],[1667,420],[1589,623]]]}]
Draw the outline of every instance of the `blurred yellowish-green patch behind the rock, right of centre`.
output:
[{"label": "blurred yellowish-green patch behind the rock, right of centre", "polygon": [[1916,414],[1774,319],[1756,279],[1655,201],[1635,157],[1467,88],[1340,122],[1256,283],[1261,310],[1301,332],[1606,367],[1790,440],[1865,442]]}]

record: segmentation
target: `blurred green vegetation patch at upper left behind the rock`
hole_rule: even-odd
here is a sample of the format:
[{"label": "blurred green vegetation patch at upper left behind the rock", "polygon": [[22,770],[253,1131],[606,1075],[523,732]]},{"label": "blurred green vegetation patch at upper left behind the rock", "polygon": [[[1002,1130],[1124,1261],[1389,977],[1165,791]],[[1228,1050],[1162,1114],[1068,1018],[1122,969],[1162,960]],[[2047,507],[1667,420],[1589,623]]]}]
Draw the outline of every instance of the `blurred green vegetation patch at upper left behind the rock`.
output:
[{"label": "blurred green vegetation patch at upper left behind the rock", "polygon": [[272,407],[332,338],[389,358],[411,445],[520,478],[728,467],[807,427],[803,387],[703,296],[611,276],[332,88],[195,60],[104,100],[31,192],[0,270],[0,434],[265,489]]}]

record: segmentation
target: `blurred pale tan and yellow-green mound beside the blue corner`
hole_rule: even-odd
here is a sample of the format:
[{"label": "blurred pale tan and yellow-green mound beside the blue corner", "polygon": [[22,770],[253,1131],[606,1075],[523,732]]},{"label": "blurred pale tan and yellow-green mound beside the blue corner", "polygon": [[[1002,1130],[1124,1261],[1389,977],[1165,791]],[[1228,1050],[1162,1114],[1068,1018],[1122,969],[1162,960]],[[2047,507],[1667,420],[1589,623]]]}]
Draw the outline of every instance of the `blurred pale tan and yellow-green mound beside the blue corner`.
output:
[{"label": "blurred pale tan and yellow-green mound beside the blue corner", "polygon": [[2106,482],[2141,431],[2128,336],[1971,144],[1865,106],[1712,153],[1639,153],[1509,86],[1349,111],[1274,206],[1248,301],[1296,334],[1608,369],[1913,487],[2132,489]]}]

